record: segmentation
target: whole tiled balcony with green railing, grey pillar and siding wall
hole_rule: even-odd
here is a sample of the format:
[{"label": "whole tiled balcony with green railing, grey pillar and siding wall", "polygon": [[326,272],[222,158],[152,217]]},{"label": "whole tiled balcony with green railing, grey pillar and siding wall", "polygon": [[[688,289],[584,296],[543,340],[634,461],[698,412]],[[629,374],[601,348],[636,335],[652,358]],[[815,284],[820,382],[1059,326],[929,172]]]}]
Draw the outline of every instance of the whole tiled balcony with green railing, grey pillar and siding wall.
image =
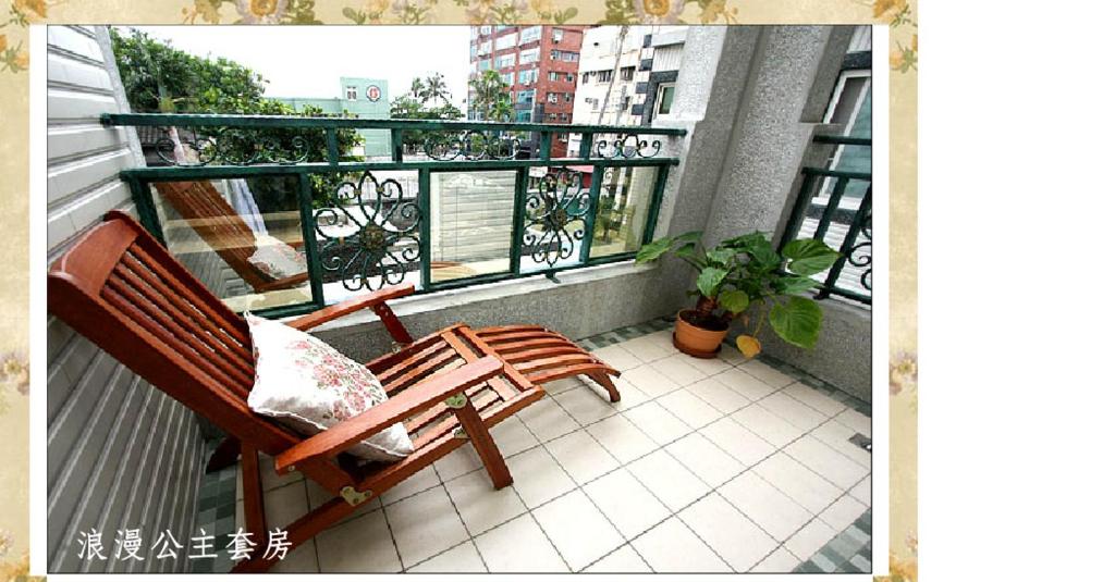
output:
[{"label": "whole tiled balcony with green railing, grey pillar and siding wall", "polygon": [[[847,101],[835,91],[834,104],[816,90],[851,86],[840,71],[851,27],[773,28],[763,39],[739,28],[689,30],[677,93],[650,126],[81,109],[81,128],[97,132],[85,143],[99,144],[89,157],[100,164],[115,143],[119,159],[67,174],[84,146],[51,136],[48,259],[118,208],[233,313],[291,321],[413,285],[391,304],[415,337],[457,321],[537,324],[620,372],[618,401],[572,376],[542,382],[537,401],[493,423],[511,485],[493,488],[465,444],[360,499],[272,572],[870,572],[885,560],[871,554],[870,90]],[[132,152],[136,130],[148,136],[146,164]],[[361,130],[387,136],[389,155],[346,152]],[[655,241],[697,231],[690,254],[636,262]],[[840,252],[796,281],[823,314],[815,345],[788,343],[769,323],[756,331],[769,318],[753,311],[707,357],[680,351],[679,311],[715,266],[698,244],[756,231],[770,233],[772,252],[798,239]],[[772,270],[791,272],[777,262]],[[366,362],[400,349],[388,320],[353,311],[313,334]],[[249,463],[203,471],[225,434],[60,319],[49,326],[51,572],[90,568],[75,530],[128,526],[103,504],[167,507],[132,525],[151,540],[172,527],[225,540],[252,525]],[[736,339],[753,333],[763,349],[747,358]],[[313,467],[260,465],[269,528],[339,494]],[[229,571],[219,554],[136,568]]]}]

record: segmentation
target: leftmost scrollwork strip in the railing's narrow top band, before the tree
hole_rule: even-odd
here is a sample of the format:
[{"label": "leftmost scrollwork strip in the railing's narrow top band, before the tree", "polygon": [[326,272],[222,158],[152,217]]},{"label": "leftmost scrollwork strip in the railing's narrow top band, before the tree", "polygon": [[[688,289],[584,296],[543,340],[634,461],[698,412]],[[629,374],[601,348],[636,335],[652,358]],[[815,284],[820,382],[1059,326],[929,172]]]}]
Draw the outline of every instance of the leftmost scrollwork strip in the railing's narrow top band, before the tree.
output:
[{"label": "leftmost scrollwork strip in the railing's narrow top band, before the tree", "polygon": [[[224,164],[250,166],[253,164],[299,164],[309,157],[309,146],[300,135],[280,138],[261,135],[259,129],[241,127],[181,128],[155,140],[155,154],[167,164],[182,167]],[[175,152],[177,146],[182,151]]]}]

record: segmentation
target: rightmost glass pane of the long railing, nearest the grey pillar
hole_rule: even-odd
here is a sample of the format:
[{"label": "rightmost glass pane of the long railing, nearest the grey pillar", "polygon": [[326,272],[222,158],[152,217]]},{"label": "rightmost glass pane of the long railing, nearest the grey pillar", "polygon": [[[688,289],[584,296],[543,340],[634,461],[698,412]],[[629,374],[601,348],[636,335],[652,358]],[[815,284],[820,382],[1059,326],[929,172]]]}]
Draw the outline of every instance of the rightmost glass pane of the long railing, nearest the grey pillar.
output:
[{"label": "rightmost glass pane of the long railing, nearest the grey pillar", "polygon": [[590,256],[634,252],[642,244],[658,168],[610,167],[600,182]]}]

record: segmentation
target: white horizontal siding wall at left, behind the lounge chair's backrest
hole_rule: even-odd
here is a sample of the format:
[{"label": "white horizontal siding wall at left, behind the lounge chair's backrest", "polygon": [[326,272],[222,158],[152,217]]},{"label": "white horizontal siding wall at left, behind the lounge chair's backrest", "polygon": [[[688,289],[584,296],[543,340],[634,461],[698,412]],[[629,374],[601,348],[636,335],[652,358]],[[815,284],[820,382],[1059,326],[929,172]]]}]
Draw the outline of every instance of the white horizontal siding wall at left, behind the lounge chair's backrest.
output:
[{"label": "white horizontal siding wall at left, behind the lounge chair's backrest", "polygon": [[[98,119],[127,110],[108,46],[100,27],[47,29],[48,260],[105,212],[132,207],[116,176],[142,164],[135,132]],[[49,571],[184,571],[184,552],[119,562],[113,540],[142,527],[147,552],[163,530],[180,542],[197,535],[205,448],[196,417],[54,317],[47,345]],[[108,561],[77,557],[78,533],[90,528],[103,533]]]}]

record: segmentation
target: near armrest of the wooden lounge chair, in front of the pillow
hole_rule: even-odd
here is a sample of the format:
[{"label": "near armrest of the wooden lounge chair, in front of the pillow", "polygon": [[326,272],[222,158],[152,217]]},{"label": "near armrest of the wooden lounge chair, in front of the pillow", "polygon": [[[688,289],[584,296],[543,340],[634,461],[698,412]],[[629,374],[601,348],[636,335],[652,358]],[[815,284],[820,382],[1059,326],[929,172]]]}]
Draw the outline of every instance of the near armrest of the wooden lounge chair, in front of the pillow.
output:
[{"label": "near armrest of the wooden lounge chair, in front of the pillow", "polygon": [[275,457],[275,469],[289,471],[316,457],[330,458],[370,435],[404,420],[419,410],[491,380],[503,371],[503,360],[488,356],[447,372],[436,374],[403,394],[343,420],[288,448]]}]

